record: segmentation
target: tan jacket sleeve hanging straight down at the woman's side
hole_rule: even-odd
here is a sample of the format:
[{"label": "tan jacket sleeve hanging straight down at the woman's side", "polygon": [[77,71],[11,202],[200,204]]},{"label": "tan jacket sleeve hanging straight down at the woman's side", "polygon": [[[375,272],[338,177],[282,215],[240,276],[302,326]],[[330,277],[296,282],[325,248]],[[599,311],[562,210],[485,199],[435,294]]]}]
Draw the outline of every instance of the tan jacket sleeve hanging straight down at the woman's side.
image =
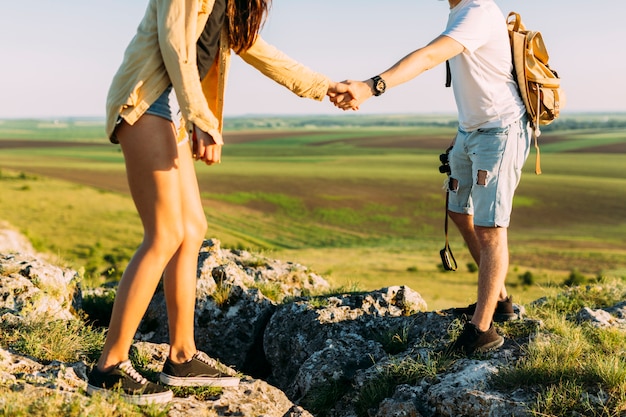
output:
[{"label": "tan jacket sleeve hanging straight down at the woman's side", "polygon": [[198,0],[157,1],[159,47],[187,132],[194,124],[205,132],[217,131],[219,121],[202,93],[196,62],[198,15],[210,10],[199,10]]}]

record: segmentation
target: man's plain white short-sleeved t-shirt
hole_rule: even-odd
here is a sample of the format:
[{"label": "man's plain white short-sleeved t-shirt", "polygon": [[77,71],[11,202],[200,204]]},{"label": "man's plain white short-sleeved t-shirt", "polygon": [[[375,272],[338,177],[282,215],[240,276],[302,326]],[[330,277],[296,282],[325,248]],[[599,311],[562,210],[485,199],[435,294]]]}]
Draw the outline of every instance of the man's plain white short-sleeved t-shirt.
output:
[{"label": "man's plain white short-sleeved t-shirt", "polygon": [[450,10],[443,35],[465,47],[450,59],[459,126],[504,127],[525,110],[513,78],[506,19],[493,0],[462,0]]}]

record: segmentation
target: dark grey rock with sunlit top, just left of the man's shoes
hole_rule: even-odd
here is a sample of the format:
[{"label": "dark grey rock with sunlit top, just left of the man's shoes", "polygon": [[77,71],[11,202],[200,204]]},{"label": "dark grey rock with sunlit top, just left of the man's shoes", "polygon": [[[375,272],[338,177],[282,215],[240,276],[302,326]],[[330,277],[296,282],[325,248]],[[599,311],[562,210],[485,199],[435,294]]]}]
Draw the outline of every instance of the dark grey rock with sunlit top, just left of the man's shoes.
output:
[{"label": "dark grey rock with sunlit top, just left of the man's shoes", "polygon": [[[356,368],[371,366],[372,360],[385,353],[373,339],[408,326],[406,314],[426,307],[419,294],[406,287],[335,295],[325,298],[320,306],[316,303],[315,299],[305,299],[280,306],[265,330],[263,344],[272,369],[269,380],[291,395],[308,391],[311,381],[304,381],[303,376],[290,387],[306,361],[311,369],[324,368],[321,362],[327,360],[343,364],[335,379],[345,373],[352,375]],[[363,350],[365,346],[370,349]],[[331,356],[313,356],[321,351]]]}]

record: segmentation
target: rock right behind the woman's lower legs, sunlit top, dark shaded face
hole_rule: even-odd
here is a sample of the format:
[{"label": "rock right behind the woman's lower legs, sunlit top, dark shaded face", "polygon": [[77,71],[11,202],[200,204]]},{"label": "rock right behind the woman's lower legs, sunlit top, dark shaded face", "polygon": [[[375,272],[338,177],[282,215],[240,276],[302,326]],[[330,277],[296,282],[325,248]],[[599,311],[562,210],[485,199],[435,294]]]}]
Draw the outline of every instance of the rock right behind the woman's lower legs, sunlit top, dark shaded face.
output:
[{"label": "rock right behind the woman's lower legs, sunlit top, dark shaded face", "polygon": [[[204,242],[198,257],[196,343],[200,350],[227,365],[264,378],[269,367],[263,350],[265,327],[279,301],[287,296],[319,292],[328,283],[308,268],[291,262],[223,250],[218,240]],[[263,294],[277,294],[274,300]],[[167,311],[162,289],[146,312],[141,340],[168,341]]]}]

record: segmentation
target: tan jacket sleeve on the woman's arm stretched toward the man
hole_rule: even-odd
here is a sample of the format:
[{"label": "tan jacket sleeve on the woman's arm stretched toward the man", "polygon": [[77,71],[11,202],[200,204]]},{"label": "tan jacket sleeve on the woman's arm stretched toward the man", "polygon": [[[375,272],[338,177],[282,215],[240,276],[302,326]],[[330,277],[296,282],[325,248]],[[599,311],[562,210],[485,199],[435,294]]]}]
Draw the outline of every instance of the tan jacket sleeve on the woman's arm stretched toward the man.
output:
[{"label": "tan jacket sleeve on the woman's arm stretched toward the man", "polygon": [[260,36],[257,36],[250,49],[240,53],[239,56],[265,76],[300,97],[322,101],[328,91],[329,79],[325,75],[293,60]]}]

